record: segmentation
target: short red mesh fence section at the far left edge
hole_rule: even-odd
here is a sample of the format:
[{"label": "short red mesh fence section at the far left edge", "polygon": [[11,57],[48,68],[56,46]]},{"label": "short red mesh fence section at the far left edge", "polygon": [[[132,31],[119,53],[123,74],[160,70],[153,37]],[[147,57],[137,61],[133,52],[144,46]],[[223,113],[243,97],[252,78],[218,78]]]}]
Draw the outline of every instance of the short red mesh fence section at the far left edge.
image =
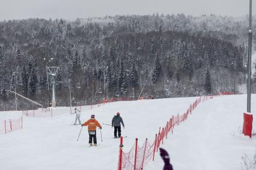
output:
[{"label": "short red mesh fence section at the far left edge", "polygon": [[0,125],[0,133],[8,133],[14,130],[22,129],[23,119],[20,117],[19,119],[9,119],[5,120]]}]

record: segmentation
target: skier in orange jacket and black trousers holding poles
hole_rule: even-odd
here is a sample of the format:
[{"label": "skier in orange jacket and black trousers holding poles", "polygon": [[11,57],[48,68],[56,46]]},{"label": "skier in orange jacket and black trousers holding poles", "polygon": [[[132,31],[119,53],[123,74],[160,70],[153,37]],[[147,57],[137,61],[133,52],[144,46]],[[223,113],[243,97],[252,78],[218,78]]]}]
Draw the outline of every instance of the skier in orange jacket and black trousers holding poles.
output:
[{"label": "skier in orange jacket and black trousers holding poles", "polygon": [[92,146],[93,144],[94,146],[97,146],[96,128],[99,127],[100,129],[102,129],[102,126],[100,126],[100,123],[95,119],[95,115],[93,114],[91,116],[91,119],[83,123],[82,126],[88,126],[90,146]]}]

